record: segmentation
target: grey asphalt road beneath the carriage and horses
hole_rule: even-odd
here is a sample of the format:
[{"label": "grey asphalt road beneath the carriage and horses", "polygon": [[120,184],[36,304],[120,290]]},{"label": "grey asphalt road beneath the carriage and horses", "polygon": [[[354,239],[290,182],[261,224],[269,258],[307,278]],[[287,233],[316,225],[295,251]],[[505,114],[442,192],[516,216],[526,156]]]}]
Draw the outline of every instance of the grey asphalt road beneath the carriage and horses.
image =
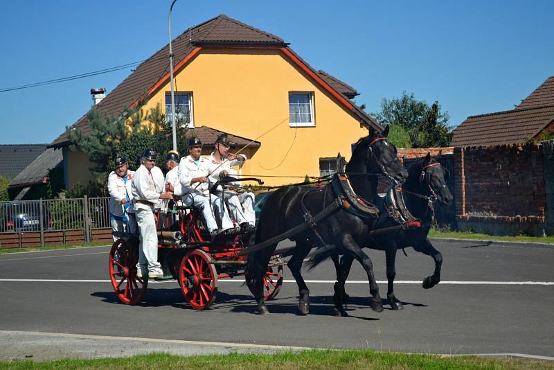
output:
[{"label": "grey asphalt road beneath the carriage and horses", "polygon": [[[554,248],[434,244],[444,263],[442,281],[431,290],[420,284],[433,272],[431,258],[413,249],[406,249],[407,258],[397,256],[401,311],[368,308],[366,276],[355,263],[354,282],[346,286],[348,317],[332,316],[331,263],[304,274],[314,281],[308,283],[310,315],[298,315],[296,283],[285,281],[268,303],[271,315],[260,317],[237,280],[221,280],[206,311],[190,308],[176,281],[151,283],[141,305],[125,306],[108,281],[107,247],[0,255],[0,338],[6,343],[0,359],[28,353],[35,359],[133,355],[174,347],[188,354],[278,349],[271,346],[554,358]],[[369,254],[377,280],[384,281],[384,254]],[[292,279],[287,267],[285,279]],[[386,303],[386,283],[379,288]]]}]

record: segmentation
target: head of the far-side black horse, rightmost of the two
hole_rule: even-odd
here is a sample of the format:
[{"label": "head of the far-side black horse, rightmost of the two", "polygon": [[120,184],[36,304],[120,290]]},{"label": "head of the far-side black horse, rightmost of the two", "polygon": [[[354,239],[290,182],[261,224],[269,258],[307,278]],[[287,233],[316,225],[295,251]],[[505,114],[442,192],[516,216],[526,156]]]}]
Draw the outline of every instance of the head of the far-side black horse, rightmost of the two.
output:
[{"label": "head of the far-side black horse, rightmost of the two", "polygon": [[431,153],[427,153],[420,175],[420,187],[427,189],[427,195],[436,197],[443,204],[450,204],[453,197],[447,186],[449,176],[449,171],[433,159]]}]

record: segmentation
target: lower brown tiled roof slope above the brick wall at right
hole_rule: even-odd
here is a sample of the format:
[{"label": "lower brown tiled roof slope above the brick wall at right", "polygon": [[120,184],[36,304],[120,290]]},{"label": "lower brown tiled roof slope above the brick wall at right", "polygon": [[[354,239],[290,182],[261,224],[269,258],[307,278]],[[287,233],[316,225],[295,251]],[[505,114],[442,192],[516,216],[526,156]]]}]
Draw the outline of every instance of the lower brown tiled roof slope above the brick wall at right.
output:
[{"label": "lower brown tiled roof slope above the brick wall at right", "polygon": [[554,105],[470,116],[454,129],[452,146],[523,143],[554,121]]}]

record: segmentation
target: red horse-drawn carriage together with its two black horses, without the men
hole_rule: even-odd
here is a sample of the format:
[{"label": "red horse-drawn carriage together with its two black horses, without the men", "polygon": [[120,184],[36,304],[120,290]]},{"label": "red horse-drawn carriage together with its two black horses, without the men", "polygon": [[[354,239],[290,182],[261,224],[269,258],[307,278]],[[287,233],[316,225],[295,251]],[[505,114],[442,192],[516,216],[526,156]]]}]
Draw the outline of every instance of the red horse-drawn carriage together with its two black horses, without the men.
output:
[{"label": "red horse-drawn carriage together with its two black horses, without the men", "polygon": [[[373,132],[360,139],[348,164],[339,155],[337,174],[325,186],[286,186],[271,193],[260,211],[256,238],[249,234],[208,241],[199,211],[175,206],[178,222],[159,232],[159,261],[164,274],[177,279],[185,299],[199,310],[208,308],[215,299],[217,279],[244,275],[258,313],[266,315],[265,301],[278,293],[283,283],[282,266],[287,264],[298,285],[299,309],[307,315],[310,291],[301,267],[310,250],[318,248],[320,257],[316,252],[314,265],[332,258],[337,270],[335,314],[346,315],[342,308],[348,297],[344,283],[353,260],[364,267],[373,296],[370,306],[379,312],[383,306],[373,265],[361,250],[370,247],[386,253],[388,302],[393,309],[401,309],[402,303],[393,292],[397,249],[413,247],[431,256],[435,270],[422,286],[428,289],[436,285],[443,259],[427,239],[433,220],[432,202],[450,202],[452,195],[445,183],[446,170],[430,155],[406,171],[396,148],[386,142],[387,133],[388,128],[383,134]],[[391,184],[382,200],[377,195],[378,177],[386,177]],[[292,240],[294,247],[276,250],[285,239]],[[138,245],[136,237],[121,238],[109,256],[111,282],[119,299],[127,304],[138,303],[148,285],[148,279],[136,276]],[[286,263],[285,256],[290,257]],[[339,256],[343,256],[340,261]]]}]

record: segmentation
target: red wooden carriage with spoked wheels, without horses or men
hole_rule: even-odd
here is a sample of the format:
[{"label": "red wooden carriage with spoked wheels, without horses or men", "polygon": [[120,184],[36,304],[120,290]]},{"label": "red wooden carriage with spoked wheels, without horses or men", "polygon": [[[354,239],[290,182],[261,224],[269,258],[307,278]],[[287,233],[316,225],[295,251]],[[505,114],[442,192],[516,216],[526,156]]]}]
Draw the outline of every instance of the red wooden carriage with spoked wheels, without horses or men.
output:
[{"label": "red wooden carriage with spoked wheels, without horses or men", "polygon": [[[244,180],[244,179],[243,179]],[[233,182],[229,177],[220,182]],[[215,185],[214,187],[217,187]],[[167,213],[157,213],[158,261],[164,279],[176,279],[186,301],[205,310],[215,300],[218,280],[244,275],[247,256],[240,255],[251,238],[247,234],[220,235],[212,240],[194,206],[170,202]],[[137,276],[139,236],[121,234],[109,252],[109,276],[117,297],[125,304],[139,303],[148,288],[148,276]],[[283,283],[283,262],[275,256],[264,278],[265,299],[278,294]]]}]

